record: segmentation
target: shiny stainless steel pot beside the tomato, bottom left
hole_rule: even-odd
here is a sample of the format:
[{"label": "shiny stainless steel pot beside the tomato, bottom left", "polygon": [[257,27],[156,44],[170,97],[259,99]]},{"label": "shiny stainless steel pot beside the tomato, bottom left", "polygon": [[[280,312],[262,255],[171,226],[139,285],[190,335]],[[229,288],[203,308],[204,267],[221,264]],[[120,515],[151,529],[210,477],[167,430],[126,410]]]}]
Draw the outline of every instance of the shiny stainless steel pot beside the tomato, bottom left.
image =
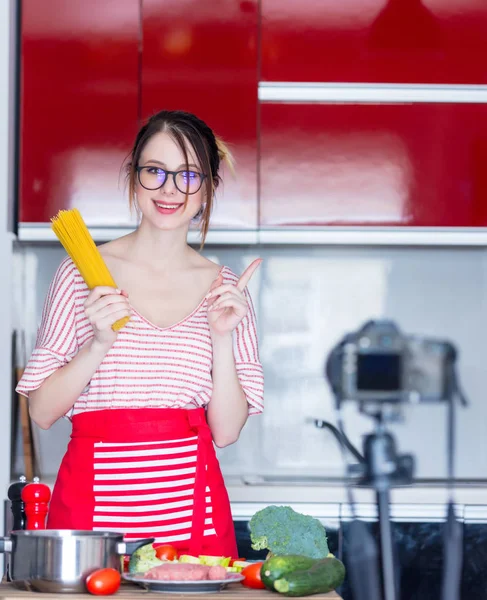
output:
[{"label": "shiny stainless steel pot beside the tomato, bottom left", "polygon": [[120,557],[150,544],[154,538],[124,542],[122,533],[44,529],[12,531],[0,538],[0,552],[10,554],[14,586],[38,592],[82,593],[96,569],[121,570]]}]

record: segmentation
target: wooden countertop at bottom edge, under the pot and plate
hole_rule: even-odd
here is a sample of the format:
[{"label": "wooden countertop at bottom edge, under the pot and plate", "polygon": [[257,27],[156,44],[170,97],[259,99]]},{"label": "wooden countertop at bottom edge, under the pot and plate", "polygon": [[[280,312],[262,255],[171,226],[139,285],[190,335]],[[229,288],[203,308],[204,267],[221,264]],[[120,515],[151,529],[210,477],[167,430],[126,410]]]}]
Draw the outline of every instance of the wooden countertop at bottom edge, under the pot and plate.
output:
[{"label": "wooden countertop at bottom edge, under the pot and plate", "polygon": [[[140,597],[144,594],[157,594],[158,592],[148,592],[141,587],[124,584],[120,587],[118,592],[114,594],[115,598],[120,600],[140,600]],[[17,590],[8,583],[0,584],[0,600],[59,600],[63,594],[49,594],[46,592],[28,592],[24,590]],[[64,594],[68,600],[86,600],[90,597],[90,594]],[[252,590],[245,588],[242,585],[231,585],[221,592],[212,594],[201,594],[203,598],[211,600],[218,598],[219,600],[270,600],[276,598],[276,594],[269,592],[268,590]],[[194,598],[194,594],[160,594],[161,600],[163,598],[183,598],[190,597]],[[323,598],[323,600],[341,600],[340,596],[336,592],[330,592],[329,594],[317,594],[313,598]]]}]

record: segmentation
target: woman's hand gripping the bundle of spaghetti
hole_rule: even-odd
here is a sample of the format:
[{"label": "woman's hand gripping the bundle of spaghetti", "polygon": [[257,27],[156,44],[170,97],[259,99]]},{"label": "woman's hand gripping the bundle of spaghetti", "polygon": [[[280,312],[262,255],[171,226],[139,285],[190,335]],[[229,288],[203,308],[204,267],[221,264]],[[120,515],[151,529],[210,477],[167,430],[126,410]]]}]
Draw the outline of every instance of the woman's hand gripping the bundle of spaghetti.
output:
[{"label": "woman's hand gripping the bundle of spaghetti", "polygon": [[109,350],[117,339],[112,325],[130,316],[127,296],[113,287],[99,285],[88,294],[84,306],[85,315],[93,327],[93,342]]}]

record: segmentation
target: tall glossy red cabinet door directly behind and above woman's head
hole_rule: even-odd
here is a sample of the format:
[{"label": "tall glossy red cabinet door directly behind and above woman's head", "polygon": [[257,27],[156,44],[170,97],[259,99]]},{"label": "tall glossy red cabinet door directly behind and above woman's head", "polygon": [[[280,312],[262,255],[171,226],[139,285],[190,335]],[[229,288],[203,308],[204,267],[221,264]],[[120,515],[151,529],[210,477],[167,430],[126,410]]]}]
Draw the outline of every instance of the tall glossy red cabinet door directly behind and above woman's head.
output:
[{"label": "tall glossy red cabinet door directly behind and above woman's head", "polygon": [[257,225],[257,0],[143,0],[142,116],[187,110],[231,147],[213,228]]}]

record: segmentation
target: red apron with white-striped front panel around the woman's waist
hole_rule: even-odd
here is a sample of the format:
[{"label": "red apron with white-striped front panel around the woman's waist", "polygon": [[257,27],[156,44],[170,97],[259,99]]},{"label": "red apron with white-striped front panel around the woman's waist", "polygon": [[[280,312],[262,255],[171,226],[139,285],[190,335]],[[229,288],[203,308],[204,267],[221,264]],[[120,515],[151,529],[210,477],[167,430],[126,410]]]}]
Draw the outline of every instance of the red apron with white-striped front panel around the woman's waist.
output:
[{"label": "red apron with white-striped front panel around the woman's waist", "polygon": [[73,417],[49,529],[120,531],[180,553],[237,557],[230,502],[203,408]]}]

